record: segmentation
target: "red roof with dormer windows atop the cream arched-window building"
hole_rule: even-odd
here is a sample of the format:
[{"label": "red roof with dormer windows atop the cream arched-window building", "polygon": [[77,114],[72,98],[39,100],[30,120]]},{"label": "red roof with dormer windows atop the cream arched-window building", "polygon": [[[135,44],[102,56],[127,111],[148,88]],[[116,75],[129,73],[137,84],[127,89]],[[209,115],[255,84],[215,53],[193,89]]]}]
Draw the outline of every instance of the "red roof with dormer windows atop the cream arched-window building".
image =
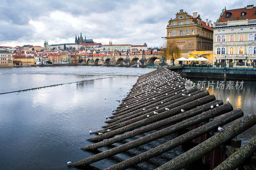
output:
[{"label": "red roof with dormer windows atop the cream arched-window building", "polygon": [[[230,18],[225,18],[227,12],[232,13]],[[244,15],[244,18],[240,18],[241,12],[246,12],[246,14]],[[252,7],[252,9],[246,9],[245,7],[245,8],[239,8],[239,9],[233,9],[233,10],[226,10],[222,14],[218,22],[226,22],[230,20],[242,20],[242,19],[256,19],[255,14],[256,14],[256,6]]]}]

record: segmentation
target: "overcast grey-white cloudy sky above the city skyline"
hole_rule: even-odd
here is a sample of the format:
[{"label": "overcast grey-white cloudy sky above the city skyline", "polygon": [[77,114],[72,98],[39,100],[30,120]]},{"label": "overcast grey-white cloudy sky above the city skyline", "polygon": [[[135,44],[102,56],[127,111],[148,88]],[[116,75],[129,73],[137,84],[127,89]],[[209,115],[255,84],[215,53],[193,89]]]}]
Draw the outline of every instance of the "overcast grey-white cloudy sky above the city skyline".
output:
[{"label": "overcast grey-white cloudy sky above the city skyline", "polygon": [[[191,2],[191,3],[190,3]],[[0,4],[0,46],[74,43],[86,34],[103,45],[133,44],[160,47],[170,18],[180,9],[199,12],[215,22],[221,10],[243,8],[254,0],[215,1],[35,1],[6,0]],[[256,5],[256,4],[254,4]]]}]

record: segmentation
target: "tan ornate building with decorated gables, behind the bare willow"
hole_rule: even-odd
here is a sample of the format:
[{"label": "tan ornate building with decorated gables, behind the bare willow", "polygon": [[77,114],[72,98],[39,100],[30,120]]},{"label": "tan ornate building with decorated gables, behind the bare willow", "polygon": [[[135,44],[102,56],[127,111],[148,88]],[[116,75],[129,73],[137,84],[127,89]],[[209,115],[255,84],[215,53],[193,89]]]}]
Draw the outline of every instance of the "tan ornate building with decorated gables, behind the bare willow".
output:
[{"label": "tan ornate building with decorated gables, behind the bare willow", "polygon": [[[202,21],[197,12],[193,16],[180,10],[174,19],[170,19],[166,27],[167,43],[176,41],[181,53],[188,51],[210,51],[213,43],[212,21]],[[187,56],[184,56],[187,57]]]}]

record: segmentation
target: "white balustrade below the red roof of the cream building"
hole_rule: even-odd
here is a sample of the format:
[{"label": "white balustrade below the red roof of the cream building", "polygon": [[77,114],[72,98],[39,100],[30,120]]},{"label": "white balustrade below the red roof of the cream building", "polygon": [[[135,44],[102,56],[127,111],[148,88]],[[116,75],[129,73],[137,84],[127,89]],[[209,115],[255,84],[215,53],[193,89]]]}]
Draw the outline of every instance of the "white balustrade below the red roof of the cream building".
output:
[{"label": "white balustrade below the red roof of the cream building", "polygon": [[250,25],[250,24],[256,24],[256,19],[244,19],[244,20],[233,20],[233,21],[227,21],[227,22],[214,22],[213,28],[215,27],[228,27],[228,26],[238,26],[238,25]]}]

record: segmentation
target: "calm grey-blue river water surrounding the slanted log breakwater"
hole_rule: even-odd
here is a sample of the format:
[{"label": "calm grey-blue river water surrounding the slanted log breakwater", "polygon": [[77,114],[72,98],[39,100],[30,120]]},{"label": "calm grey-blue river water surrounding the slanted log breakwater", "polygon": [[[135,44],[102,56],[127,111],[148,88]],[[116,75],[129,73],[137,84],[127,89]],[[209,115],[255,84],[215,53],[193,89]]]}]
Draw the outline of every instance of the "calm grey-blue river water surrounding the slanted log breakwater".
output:
[{"label": "calm grey-blue river water surrounding the slanted log breakwater", "polygon": [[[106,124],[106,116],[111,116],[112,109],[119,105],[116,100],[125,97],[136,83],[138,75],[153,70],[104,66],[0,68],[0,93],[88,80],[0,95],[0,169],[76,169],[68,168],[67,162],[94,154],[79,149],[92,144],[86,140],[95,136],[89,134],[89,130],[101,129]],[[198,83],[199,80],[193,81]],[[214,83],[216,86],[217,82]],[[234,109],[242,108],[244,114],[255,114],[255,82],[244,82],[241,90],[214,87],[209,88],[209,92],[224,101],[229,97]],[[256,129],[253,127],[239,137],[244,144],[255,134]],[[86,169],[104,169],[177,135],[101,160]],[[100,151],[107,149],[100,148]],[[183,147],[177,147],[131,169],[154,169],[184,151]]]}]

